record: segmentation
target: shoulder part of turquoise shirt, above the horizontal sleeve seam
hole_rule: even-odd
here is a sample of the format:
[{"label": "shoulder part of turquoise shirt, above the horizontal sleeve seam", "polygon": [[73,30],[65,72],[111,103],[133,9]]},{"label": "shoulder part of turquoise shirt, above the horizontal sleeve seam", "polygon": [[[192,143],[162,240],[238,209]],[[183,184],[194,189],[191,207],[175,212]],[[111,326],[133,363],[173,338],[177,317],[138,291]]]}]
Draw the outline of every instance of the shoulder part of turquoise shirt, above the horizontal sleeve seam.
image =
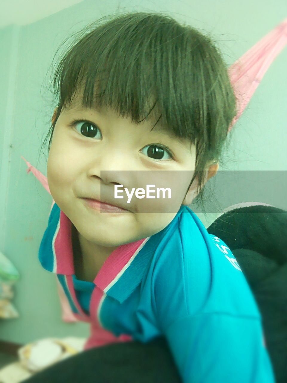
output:
[{"label": "shoulder part of turquoise shirt, above the horizontal sleeve seam", "polygon": [[174,305],[182,302],[182,315],[260,316],[232,251],[219,237],[209,234],[187,206],[161,242],[152,270],[158,299],[171,303],[176,291]]}]

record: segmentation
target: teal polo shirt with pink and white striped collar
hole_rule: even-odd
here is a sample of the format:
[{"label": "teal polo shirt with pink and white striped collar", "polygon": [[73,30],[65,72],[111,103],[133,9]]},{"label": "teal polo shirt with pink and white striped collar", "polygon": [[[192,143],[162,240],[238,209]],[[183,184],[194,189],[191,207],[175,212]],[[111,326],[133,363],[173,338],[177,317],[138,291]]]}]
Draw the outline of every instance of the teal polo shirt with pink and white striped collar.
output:
[{"label": "teal polo shirt with pink and white striped collar", "polygon": [[188,206],[160,232],[114,250],[93,283],[75,277],[71,227],[54,203],[39,260],[90,323],[85,349],[164,336],[184,383],[274,382],[248,283]]}]

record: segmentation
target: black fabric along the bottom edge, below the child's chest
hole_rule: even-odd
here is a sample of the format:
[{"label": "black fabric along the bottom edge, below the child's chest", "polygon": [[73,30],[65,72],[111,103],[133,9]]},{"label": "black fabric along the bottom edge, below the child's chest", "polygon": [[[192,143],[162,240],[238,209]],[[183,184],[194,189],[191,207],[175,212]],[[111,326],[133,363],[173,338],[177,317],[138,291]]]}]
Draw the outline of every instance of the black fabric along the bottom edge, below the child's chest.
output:
[{"label": "black fabric along the bottom edge, below the child's chest", "polygon": [[181,383],[165,338],[125,342],[69,357],[26,383]]}]

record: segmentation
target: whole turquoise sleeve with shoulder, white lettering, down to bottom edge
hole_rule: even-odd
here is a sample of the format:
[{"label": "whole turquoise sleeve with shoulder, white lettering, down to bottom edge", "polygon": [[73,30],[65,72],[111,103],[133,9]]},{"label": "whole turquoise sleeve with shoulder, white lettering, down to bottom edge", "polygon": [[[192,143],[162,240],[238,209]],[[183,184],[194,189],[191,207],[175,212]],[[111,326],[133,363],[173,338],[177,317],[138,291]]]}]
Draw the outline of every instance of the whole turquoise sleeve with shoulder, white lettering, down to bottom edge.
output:
[{"label": "whole turquoise sleeve with shoulder, white lettering, down to bottom edge", "polygon": [[184,383],[274,383],[261,315],[234,255],[184,214],[153,269],[154,311]]}]

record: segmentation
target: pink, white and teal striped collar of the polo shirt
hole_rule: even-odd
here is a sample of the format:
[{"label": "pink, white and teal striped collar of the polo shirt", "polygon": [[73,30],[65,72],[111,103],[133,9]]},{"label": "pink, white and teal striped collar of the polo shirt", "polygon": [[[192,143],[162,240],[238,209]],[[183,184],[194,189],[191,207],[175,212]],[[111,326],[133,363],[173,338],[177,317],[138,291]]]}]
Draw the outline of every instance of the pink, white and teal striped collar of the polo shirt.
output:
[{"label": "pink, white and teal striped collar of the polo shirt", "polygon": [[[181,206],[170,224],[151,237],[117,247],[105,260],[94,283],[103,293],[122,303],[143,278],[163,234],[174,223]],[[57,274],[74,275],[72,249],[72,222],[54,203],[47,229],[39,248],[42,266]]]}]

